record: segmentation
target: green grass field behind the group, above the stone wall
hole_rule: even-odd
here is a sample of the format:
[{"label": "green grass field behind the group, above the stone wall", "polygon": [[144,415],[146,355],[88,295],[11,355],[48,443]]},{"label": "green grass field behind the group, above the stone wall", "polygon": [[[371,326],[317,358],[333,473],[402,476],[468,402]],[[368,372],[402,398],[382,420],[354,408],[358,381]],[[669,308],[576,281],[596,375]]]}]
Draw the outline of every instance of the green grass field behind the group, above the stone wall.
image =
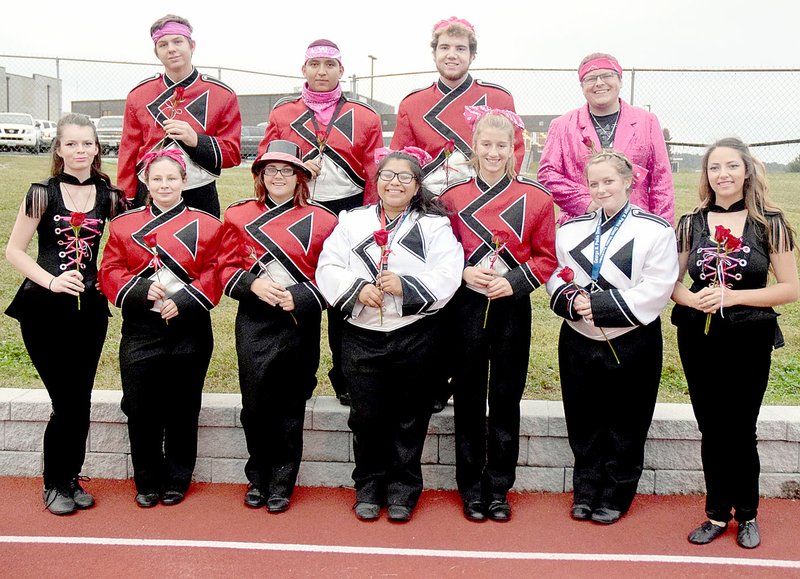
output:
[{"label": "green grass field behind the group, above the stone wall", "polygon": [[[49,160],[45,155],[3,155],[0,156],[0,244],[5,248],[23,194],[32,181],[43,179],[48,174]],[[104,162],[104,169],[112,176],[116,173],[116,161]],[[675,196],[680,215],[695,205],[698,173],[679,173],[675,175]],[[787,212],[789,220],[800,227],[800,174],[783,173],[770,178],[772,198]],[[252,195],[252,178],[249,167],[228,169],[218,184],[222,207],[237,199]],[[31,244],[35,255],[36,243]],[[21,283],[21,276],[5,261],[0,265],[0,304],[5,308]],[[558,377],[556,345],[560,318],[548,308],[548,297],[543,288],[531,297],[533,306],[533,328],[531,340],[531,359],[528,367],[528,383],[525,397],[532,399],[559,400],[561,390]],[[664,371],[661,377],[659,400],[662,402],[688,402],[686,382],[678,359],[675,344],[675,328],[669,323],[671,305],[662,315],[665,355]],[[121,316],[112,308],[114,317],[109,326],[108,340],[103,350],[100,369],[95,383],[96,388],[118,389],[119,372],[117,350]],[[236,303],[222,298],[220,305],[212,312],[214,356],[206,379],[206,392],[238,392],[236,372],[236,350],[233,338]],[[800,306],[792,304],[780,308],[781,327],[787,346],[775,351],[772,364],[772,378],[767,390],[768,404],[800,404]],[[324,318],[323,318],[324,320]],[[324,324],[324,321],[323,321]],[[324,331],[323,327],[323,331]],[[36,371],[28,359],[19,333],[16,320],[0,316],[0,387],[41,388]],[[716,363],[746,363],[746,346],[742,351],[730,353],[727,360]],[[327,341],[323,338],[322,362],[318,372],[317,394],[332,394],[327,379],[330,356]]]}]

